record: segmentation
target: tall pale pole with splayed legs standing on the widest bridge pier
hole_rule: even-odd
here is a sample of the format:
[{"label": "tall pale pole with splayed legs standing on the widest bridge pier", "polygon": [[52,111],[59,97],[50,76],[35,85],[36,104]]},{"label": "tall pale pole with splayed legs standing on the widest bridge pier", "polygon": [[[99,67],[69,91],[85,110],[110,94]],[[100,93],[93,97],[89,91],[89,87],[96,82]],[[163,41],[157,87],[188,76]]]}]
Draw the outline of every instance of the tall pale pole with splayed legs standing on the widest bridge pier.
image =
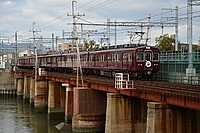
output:
[{"label": "tall pale pole with splayed legs standing on the widest bridge pier", "polygon": [[[85,16],[85,14],[77,14],[75,15],[74,12],[74,3],[76,2],[76,0],[72,0],[72,15],[67,14],[68,16],[72,16],[73,17],[73,45],[76,45],[76,50],[77,50],[77,80],[76,80],[76,85],[78,87],[78,73],[79,73],[79,68],[80,68],[80,74],[81,74],[81,81],[82,81],[82,86],[83,86],[83,77],[82,77],[82,68],[81,68],[81,62],[80,62],[80,53],[79,53],[79,46],[78,46],[78,36],[77,36],[77,31],[76,31],[76,21],[75,18],[77,16]],[[75,40],[75,42],[74,42]],[[74,46],[72,46],[74,47]]]}]

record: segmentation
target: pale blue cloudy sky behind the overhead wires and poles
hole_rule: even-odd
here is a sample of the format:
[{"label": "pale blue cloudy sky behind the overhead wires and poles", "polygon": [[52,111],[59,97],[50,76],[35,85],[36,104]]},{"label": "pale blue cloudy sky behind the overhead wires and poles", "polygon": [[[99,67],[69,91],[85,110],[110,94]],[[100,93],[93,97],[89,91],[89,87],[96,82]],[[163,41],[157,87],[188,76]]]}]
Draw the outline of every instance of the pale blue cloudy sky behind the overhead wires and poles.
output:
[{"label": "pale blue cloudy sky behind the overhead wires and poles", "polygon": [[[37,37],[51,38],[62,37],[63,30],[73,30],[72,0],[0,0],[0,36],[8,36],[10,42],[14,42],[14,33],[19,35],[19,41],[33,38],[33,22],[35,30],[40,30]],[[76,0],[75,14],[85,14],[77,17],[77,23],[103,24],[110,19],[111,22],[148,22],[151,14],[151,22],[174,23],[175,7],[179,10],[179,41],[187,42],[187,0]],[[170,10],[172,9],[172,10]],[[193,7],[193,42],[197,43],[200,36],[200,6]],[[114,43],[114,28],[111,27],[111,43]],[[140,27],[117,27],[117,43],[129,43],[128,31],[141,31]],[[77,26],[80,32],[80,25]],[[83,30],[97,30],[105,32],[105,26],[83,26]],[[147,31],[144,27],[142,31]],[[174,27],[164,27],[163,33],[175,34]],[[161,27],[151,27],[148,36],[150,45],[155,45],[155,37],[162,34]],[[99,41],[103,35],[87,36],[88,40]],[[137,36],[134,36],[138,40]],[[145,38],[145,37],[144,37]]]}]

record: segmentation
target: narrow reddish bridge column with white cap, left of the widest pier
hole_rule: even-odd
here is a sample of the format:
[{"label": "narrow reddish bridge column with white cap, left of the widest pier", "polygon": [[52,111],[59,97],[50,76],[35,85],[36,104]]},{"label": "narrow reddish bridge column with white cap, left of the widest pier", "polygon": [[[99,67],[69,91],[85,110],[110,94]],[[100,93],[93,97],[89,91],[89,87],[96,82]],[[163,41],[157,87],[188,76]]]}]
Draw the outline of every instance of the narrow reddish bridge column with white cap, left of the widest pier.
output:
[{"label": "narrow reddish bridge column with white cap, left of the widest pier", "polygon": [[74,112],[74,91],[69,84],[62,84],[66,88],[66,102],[65,102],[65,122],[72,123],[72,116]]}]

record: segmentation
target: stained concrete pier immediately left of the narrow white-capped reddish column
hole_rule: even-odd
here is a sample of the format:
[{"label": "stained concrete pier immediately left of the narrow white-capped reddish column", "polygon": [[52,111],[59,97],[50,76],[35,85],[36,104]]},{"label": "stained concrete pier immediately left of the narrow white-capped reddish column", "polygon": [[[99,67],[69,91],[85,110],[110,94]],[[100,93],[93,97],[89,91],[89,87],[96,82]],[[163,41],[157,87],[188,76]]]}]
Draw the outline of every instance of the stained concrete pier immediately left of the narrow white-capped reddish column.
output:
[{"label": "stained concrete pier immediately left of the narrow white-capped reddish column", "polygon": [[49,81],[48,119],[63,119],[65,114],[65,88],[60,83]]}]

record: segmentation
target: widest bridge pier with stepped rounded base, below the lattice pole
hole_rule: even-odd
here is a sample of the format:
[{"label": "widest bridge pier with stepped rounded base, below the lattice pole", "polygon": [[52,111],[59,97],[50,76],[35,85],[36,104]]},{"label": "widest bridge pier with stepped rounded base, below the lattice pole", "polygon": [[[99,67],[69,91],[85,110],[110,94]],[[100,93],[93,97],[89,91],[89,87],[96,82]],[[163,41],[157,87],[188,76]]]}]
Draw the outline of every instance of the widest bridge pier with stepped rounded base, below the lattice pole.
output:
[{"label": "widest bridge pier with stepped rounded base, below the lattice pole", "polygon": [[106,93],[88,88],[74,88],[72,131],[104,132]]}]

